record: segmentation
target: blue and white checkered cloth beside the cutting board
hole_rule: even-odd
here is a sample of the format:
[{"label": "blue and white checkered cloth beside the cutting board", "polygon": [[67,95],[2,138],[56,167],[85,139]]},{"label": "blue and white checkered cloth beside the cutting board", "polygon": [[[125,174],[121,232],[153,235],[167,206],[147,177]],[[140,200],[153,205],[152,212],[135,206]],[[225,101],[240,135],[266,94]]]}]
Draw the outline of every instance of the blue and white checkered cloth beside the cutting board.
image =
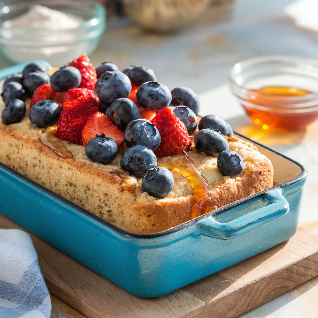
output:
[{"label": "blue and white checkered cloth beside the cutting board", "polygon": [[50,318],[51,298],[29,234],[0,229],[0,317]]}]

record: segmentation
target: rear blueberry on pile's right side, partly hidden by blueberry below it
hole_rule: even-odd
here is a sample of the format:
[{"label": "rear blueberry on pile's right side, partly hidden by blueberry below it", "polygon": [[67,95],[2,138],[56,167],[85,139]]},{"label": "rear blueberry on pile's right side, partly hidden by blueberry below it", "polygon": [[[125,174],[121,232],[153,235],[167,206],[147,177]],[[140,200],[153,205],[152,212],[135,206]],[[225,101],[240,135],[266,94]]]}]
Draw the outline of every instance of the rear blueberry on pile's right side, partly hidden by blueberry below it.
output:
[{"label": "rear blueberry on pile's right side, partly hidden by blueberry below it", "polygon": [[171,91],[171,95],[171,106],[184,105],[192,109],[196,115],[198,114],[200,102],[197,94],[192,89],[185,86],[176,87]]}]

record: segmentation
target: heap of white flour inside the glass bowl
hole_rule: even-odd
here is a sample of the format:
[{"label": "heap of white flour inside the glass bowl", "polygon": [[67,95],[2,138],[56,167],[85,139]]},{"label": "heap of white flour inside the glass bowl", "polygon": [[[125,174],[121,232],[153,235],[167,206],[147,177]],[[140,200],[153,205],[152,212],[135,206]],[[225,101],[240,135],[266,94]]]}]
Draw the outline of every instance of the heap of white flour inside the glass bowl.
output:
[{"label": "heap of white flour inside the glass bowl", "polygon": [[80,17],[36,4],[26,13],[12,20],[6,20],[5,29],[63,31],[76,29],[83,22]]}]

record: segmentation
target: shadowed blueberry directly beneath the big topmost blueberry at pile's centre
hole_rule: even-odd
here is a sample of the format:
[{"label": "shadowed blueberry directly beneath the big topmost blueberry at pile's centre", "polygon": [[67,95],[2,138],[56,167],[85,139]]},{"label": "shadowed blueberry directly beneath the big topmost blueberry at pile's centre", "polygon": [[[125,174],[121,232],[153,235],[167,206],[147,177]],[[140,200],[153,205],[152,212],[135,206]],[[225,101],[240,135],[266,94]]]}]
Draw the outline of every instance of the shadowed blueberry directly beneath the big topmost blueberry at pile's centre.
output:
[{"label": "shadowed blueberry directly beneath the big topmost blueberry at pile's centre", "polygon": [[137,105],[132,100],[119,98],[110,106],[108,117],[120,130],[125,130],[131,121],[141,118],[141,115]]}]

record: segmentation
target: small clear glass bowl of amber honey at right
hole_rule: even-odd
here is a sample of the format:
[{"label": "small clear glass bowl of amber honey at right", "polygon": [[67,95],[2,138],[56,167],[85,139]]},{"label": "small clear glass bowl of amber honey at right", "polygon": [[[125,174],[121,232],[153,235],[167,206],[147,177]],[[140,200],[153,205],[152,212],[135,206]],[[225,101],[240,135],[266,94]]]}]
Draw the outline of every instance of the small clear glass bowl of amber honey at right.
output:
[{"label": "small clear glass bowl of amber honey at right", "polygon": [[235,64],[232,93],[247,116],[273,131],[303,129],[318,118],[318,61],[262,56]]}]

